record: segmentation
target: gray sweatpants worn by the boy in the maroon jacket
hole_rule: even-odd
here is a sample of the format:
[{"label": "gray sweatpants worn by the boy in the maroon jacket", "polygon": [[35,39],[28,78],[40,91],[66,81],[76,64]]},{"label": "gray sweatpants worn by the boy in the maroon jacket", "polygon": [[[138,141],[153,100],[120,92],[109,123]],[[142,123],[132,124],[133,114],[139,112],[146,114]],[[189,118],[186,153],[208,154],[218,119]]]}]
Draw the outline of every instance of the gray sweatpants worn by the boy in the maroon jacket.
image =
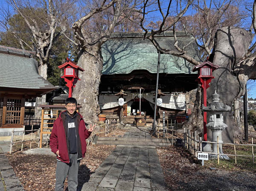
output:
[{"label": "gray sweatpants worn by the boy in the maroon jacket", "polygon": [[70,154],[70,163],[57,160],[55,191],[63,191],[66,177],[69,191],[76,191],[78,185],[78,168],[80,160],[77,161],[77,154]]}]

